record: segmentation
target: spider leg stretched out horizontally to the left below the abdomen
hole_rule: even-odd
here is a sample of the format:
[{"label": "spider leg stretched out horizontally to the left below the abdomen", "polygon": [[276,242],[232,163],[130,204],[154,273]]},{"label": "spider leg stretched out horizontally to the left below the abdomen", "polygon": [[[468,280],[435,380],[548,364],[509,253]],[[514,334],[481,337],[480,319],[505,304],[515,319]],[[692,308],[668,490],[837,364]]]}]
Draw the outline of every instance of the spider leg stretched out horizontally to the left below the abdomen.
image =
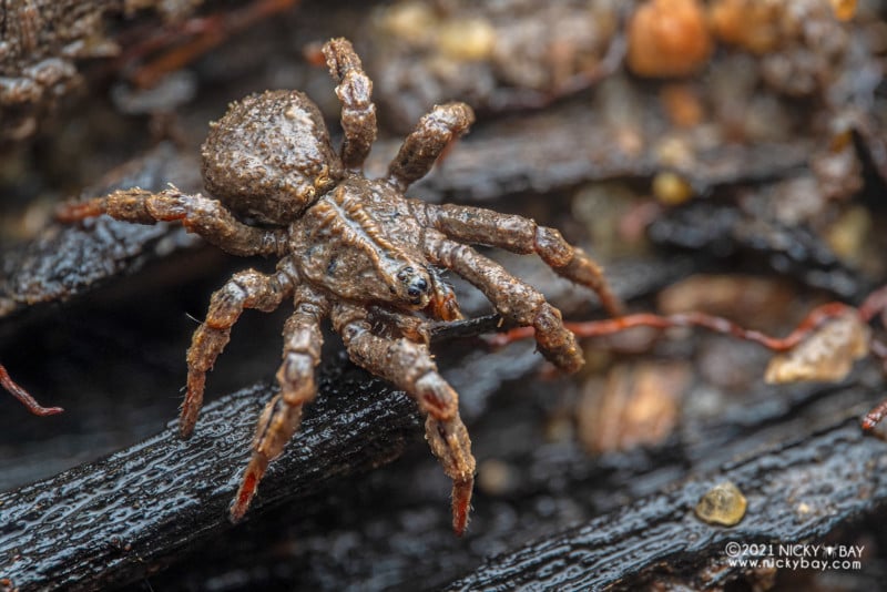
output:
[{"label": "spider leg stretched out horizontally to the left below the abdomen", "polygon": [[73,223],[102,214],[136,224],[181,221],[187,232],[201,235],[232,255],[286,254],[285,229],[248,226],[235,220],[217,200],[198,193],[188,195],[175,187],[160,193],[137,187],[121,190],[104,197],[62,204],[55,217],[59,222]]}]

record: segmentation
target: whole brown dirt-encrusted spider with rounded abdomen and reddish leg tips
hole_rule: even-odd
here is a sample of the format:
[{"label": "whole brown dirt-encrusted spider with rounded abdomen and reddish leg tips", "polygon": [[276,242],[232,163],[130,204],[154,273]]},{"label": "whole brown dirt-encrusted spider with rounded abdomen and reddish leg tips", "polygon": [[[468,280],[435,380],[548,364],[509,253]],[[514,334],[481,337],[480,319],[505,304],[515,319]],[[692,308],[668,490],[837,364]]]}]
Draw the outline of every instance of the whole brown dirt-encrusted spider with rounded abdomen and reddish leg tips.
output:
[{"label": "whole brown dirt-encrusted spider with rounded abdomen and reddish leg tips", "polygon": [[475,458],[458,395],[438,374],[428,348],[430,319],[462,318],[441,271],[477,286],[504,318],[533,327],[539,350],[567,371],[579,369],[583,358],[560,312],[463,243],[536,253],[558,274],[594,289],[611,314],[619,314],[621,304],[599,266],[558,231],[521,216],[405,197],[473,122],[463,103],[435,106],[406,137],[384,178],[364,176],[363,163],[376,139],[373,82],[349,41],[333,39],[323,53],[343,105],[338,154],[319,110],[305,94],[266,91],[232,103],[210,124],[202,172],[215,198],[173,186],[159,193],[132,188],[64,204],[58,216],[69,223],[101,214],[140,224],[180,221],[233,255],[279,258],[273,274],[246,269],[215,292],[187,350],[180,417],[185,438],[201,409],[206,371],[243,310],[272,312],[285,299],[293,303],[283,331],[279,392],[258,420],[252,458],[231,507],[233,521],[246,512],[268,463],[316,395],[320,325],[329,318],[355,364],[416,399],[431,451],[452,479],[452,528],[461,534]]}]

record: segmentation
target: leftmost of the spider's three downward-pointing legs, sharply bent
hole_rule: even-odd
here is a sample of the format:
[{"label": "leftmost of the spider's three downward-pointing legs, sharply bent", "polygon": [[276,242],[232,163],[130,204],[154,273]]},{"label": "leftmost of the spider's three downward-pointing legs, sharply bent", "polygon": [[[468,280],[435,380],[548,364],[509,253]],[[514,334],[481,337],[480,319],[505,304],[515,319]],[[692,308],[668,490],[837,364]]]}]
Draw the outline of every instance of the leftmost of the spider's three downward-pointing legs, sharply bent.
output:
[{"label": "leftmost of the spider's three downward-pointing legs, sharply bent", "polygon": [[288,259],[284,259],[272,275],[255,269],[238,272],[213,293],[206,320],[194,331],[187,350],[187,394],[179,417],[179,431],[183,438],[194,431],[203,405],[206,372],[231,339],[231,328],[246,308],[271,313],[281,306],[295,286],[293,278],[296,275],[290,265]]}]

